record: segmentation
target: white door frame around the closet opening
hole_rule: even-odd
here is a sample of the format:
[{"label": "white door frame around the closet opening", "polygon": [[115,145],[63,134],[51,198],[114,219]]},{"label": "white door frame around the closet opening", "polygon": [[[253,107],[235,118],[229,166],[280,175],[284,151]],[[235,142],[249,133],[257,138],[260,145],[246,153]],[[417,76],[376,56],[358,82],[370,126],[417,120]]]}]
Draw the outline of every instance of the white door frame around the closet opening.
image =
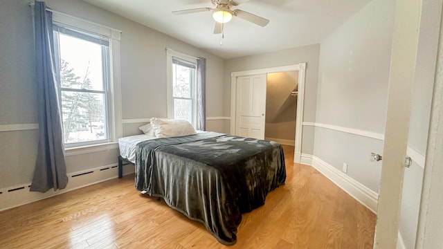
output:
[{"label": "white door frame around the closet opening", "polygon": [[[268,73],[280,73],[287,71],[298,71],[298,98],[297,98],[297,114],[296,114],[296,138],[293,161],[300,163],[301,160],[301,145],[302,145],[302,122],[303,122],[303,107],[305,104],[305,73],[306,62],[299,64],[292,64],[288,66],[276,66],[271,68],[260,68],[247,71],[238,71],[230,73],[230,133],[235,134],[235,110],[237,106],[237,77],[251,76]],[[266,113],[265,113],[266,115]]]}]

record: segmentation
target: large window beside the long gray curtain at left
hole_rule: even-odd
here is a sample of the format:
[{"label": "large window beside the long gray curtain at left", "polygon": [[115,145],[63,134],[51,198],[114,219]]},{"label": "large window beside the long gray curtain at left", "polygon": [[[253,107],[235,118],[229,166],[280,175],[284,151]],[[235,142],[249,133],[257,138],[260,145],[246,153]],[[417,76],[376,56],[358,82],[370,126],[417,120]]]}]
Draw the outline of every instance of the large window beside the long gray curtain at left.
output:
[{"label": "large window beside the long gray curtain at left", "polygon": [[[54,17],[54,54],[65,146],[111,142],[118,137],[113,86],[120,82],[115,76],[111,77],[112,30],[90,23],[85,25],[78,19],[71,20],[71,25],[56,19]],[[73,26],[73,22],[81,28]],[[88,28],[99,32],[89,32]],[[100,29],[109,35],[100,33]]]}]

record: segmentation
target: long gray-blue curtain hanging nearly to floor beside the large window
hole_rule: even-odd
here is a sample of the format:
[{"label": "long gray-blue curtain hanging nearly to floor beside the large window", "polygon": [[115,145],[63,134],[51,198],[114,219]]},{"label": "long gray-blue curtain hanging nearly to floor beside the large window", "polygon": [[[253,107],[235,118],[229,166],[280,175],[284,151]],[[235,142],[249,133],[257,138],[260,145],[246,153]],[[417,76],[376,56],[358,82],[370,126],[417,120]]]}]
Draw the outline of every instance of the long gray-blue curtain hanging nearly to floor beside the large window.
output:
[{"label": "long gray-blue curtain hanging nearly to floor beside the large window", "polygon": [[30,191],[60,190],[68,184],[64,161],[62,118],[55,80],[52,12],[35,1],[35,84],[39,145]]}]

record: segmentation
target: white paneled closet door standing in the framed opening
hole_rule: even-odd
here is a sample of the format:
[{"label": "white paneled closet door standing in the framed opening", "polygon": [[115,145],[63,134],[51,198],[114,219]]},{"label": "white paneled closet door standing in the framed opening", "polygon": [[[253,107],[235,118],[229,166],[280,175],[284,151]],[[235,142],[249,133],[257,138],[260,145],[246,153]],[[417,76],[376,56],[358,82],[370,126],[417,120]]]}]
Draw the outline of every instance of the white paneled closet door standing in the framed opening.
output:
[{"label": "white paneled closet door standing in the framed opening", "polygon": [[266,74],[237,77],[235,135],[264,139]]}]

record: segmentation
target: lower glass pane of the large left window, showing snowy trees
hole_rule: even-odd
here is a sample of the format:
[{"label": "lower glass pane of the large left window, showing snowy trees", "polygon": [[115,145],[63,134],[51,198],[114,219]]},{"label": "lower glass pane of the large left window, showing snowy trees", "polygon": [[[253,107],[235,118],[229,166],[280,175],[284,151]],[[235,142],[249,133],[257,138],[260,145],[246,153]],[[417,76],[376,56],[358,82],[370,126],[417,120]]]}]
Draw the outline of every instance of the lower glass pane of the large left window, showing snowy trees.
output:
[{"label": "lower glass pane of the large left window, showing snowy trees", "polygon": [[107,139],[105,94],[62,91],[64,142]]}]

